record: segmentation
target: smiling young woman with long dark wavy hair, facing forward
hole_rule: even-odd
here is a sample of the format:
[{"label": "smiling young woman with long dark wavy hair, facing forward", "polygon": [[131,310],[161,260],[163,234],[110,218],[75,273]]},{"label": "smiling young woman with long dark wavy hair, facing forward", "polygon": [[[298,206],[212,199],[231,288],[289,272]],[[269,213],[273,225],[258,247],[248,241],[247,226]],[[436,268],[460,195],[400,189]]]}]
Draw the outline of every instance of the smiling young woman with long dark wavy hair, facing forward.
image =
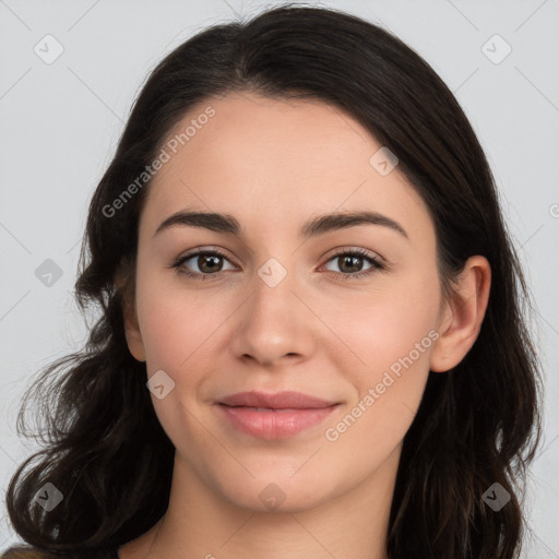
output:
[{"label": "smiling young woman with long dark wavy hair, facing forward", "polygon": [[466,117],[386,31],[286,5],[168,55],[76,295],[103,314],[39,379],[51,440],[7,493],[27,549],[516,556],[526,287]]}]

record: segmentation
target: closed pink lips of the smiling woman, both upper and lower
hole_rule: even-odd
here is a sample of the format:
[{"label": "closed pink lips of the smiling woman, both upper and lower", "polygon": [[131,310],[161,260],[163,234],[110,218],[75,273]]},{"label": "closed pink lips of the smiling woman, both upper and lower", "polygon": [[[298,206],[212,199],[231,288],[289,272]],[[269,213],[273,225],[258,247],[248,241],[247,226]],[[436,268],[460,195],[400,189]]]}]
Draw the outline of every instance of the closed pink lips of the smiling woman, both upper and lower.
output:
[{"label": "closed pink lips of the smiling woman, both upper and lower", "polygon": [[239,392],[218,408],[237,430],[260,439],[287,439],[321,424],[338,404],[300,392]]}]

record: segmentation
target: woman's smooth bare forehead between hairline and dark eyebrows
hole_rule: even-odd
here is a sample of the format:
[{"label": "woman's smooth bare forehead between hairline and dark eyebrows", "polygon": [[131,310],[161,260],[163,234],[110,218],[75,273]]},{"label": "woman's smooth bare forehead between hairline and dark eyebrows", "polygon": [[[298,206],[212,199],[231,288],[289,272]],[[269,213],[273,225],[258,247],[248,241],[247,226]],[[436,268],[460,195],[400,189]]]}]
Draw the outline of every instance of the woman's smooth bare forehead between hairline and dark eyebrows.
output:
[{"label": "woman's smooth bare forehead between hairline and dark eyebrows", "polygon": [[383,176],[371,165],[382,145],[324,102],[248,93],[211,98],[177,122],[163,145],[169,159],[152,180],[142,215],[152,233],[186,206],[276,230],[335,210],[428,219],[397,167]]}]

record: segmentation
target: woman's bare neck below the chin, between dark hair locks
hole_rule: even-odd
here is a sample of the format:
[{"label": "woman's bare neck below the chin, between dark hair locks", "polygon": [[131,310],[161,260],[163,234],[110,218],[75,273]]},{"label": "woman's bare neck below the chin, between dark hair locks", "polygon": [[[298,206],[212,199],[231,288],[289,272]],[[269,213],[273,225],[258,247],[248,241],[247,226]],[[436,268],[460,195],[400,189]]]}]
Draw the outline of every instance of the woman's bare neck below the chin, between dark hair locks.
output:
[{"label": "woman's bare neck below the chin, between dark hair locks", "polygon": [[120,559],[386,559],[386,533],[401,447],[372,475],[311,509],[262,512],[212,490],[176,454],[169,507]]}]

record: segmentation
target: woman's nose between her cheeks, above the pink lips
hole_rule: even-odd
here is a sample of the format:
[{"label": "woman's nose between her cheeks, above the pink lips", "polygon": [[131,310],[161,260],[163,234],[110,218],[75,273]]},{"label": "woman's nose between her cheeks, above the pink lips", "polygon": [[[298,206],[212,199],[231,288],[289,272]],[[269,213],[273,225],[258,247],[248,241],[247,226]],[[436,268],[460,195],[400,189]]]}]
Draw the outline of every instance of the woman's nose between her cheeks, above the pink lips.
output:
[{"label": "woman's nose between her cheeks, above the pink lips", "polygon": [[292,273],[276,285],[262,277],[255,274],[253,292],[236,313],[231,340],[235,356],[267,368],[308,359],[316,347],[320,321],[304,302],[304,290]]}]

